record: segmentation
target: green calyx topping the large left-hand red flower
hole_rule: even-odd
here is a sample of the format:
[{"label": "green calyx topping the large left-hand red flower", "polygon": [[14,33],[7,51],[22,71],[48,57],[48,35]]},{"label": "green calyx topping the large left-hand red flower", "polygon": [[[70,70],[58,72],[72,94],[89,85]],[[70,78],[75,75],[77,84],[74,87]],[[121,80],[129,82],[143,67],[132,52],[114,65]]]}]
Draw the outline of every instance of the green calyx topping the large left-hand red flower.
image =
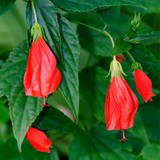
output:
[{"label": "green calyx topping the large left-hand red flower", "polygon": [[32,28],[31,28],[31,37],[33,38],[32,42],[33,41],[37,42],[38,37],[41,37],[42,39],[44,39],[45,41],[47,41],[45,33],[44,33],[44,29],[38,23],[35,23],[32,26]]}]

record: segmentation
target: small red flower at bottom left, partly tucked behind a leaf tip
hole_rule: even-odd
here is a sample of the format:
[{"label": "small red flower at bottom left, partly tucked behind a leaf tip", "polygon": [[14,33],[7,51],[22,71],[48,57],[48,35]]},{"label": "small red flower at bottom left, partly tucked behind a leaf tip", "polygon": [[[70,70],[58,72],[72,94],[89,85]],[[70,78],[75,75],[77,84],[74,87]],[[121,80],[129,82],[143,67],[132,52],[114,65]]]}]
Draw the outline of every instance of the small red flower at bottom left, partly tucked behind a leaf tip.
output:
[{"label": "small red flower at bottom left, partly tucked behind a leaf tip", "polygon": [[50,153],[52,142],[42,131],[29,127],[26,138],[36,150]]}]

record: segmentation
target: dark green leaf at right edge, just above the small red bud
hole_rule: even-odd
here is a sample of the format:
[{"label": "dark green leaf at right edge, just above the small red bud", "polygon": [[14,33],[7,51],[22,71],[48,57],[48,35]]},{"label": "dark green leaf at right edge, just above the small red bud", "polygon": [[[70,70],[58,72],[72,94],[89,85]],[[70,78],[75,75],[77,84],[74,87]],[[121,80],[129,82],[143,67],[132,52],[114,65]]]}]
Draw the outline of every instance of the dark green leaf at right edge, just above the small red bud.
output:
[{"label": "dark green leaf at right edge, just above the small red bud", "polygon": [[160,64],[143,44],[134,44],[130,53],[137,62],[140,62],[143,70],[152,81],[160,81]]}]

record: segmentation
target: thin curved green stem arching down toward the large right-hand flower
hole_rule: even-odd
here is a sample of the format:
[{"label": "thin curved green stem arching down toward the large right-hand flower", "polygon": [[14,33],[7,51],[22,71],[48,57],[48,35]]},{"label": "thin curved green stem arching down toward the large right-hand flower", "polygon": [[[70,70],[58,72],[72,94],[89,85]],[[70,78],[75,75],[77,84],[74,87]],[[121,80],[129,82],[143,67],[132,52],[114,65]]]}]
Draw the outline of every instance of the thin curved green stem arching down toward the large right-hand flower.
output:
[{"label": "thin curved green stem arching down toward the large right-hand flower", "polygon": [[86,26],[86,27],[88,27],[88,28],[91,28],[91,29],[93,29],[93,30],[95,30],[95,31],[97,31],[97,32],[100,32],[100,33],[104,34],[105,36],[109,37],[110,40],[111,40],[112,46],[113,46],[113,48],[114,48],[114,40],[113,40],[112,36],[111,36],[107,31],[105,31],[105,30],[99,30],[99,29],[97,29],[97,28],[94,28],[94,27],[92,27],[92,26],[89,26],[89,25],[87,25],[87,24],[84,24],[84,23],[81,23],[81,22],[78,22],[78,21],[74,21],[74,20],[71,20],[71,21],[73,21],[73,22],[75,22],[75,23],[78,23],[78,24],[81,24],[81,25],[83,25],[83,26]]}]

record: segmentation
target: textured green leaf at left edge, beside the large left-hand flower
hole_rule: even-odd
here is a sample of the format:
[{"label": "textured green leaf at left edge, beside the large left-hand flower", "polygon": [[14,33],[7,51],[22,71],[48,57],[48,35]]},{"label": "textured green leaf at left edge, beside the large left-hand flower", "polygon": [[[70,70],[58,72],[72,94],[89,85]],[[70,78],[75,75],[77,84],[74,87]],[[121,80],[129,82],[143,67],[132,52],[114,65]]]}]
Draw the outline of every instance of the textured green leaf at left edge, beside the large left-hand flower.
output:
[{"label": "textured green leaf at left edge, beside the large left-hand flower", "polygon": [[3,64],[0,71],[0,97],[6,95],[9,98],[11,90],[22,81],[28,54],[27,41],[22,41],[10,53],[9,58]]}]

